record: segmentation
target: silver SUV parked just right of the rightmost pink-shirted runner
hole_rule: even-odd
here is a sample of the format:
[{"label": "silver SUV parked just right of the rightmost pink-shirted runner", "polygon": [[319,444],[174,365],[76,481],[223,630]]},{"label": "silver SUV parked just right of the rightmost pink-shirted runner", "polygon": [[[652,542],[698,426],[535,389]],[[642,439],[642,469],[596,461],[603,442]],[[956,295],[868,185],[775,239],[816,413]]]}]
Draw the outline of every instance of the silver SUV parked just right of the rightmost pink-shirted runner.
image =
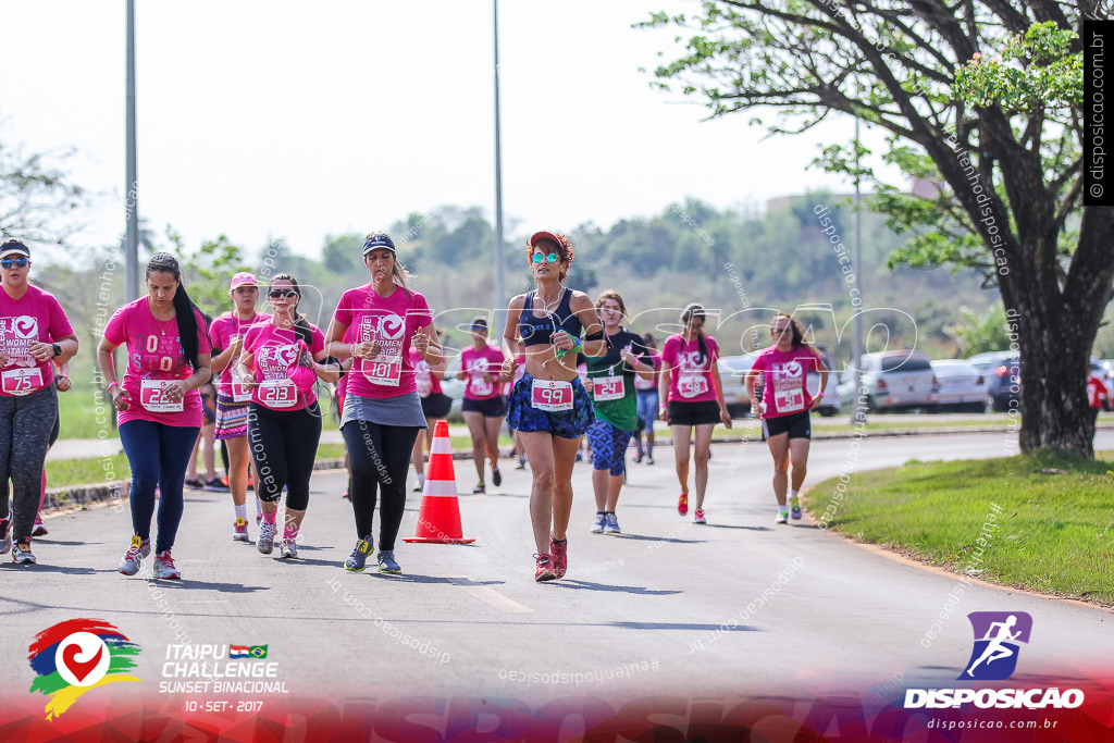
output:
[{"label": "silver SUV parked just right of the rightmost pink-shirted runner", "polygon": [[[879,351],[862,355],[862,387],[867,410],[921,408],[936,410],[939,383],[932,364],[920,351]],[[839,384],[840,398],[854,400],[854,372],[848,371]]]}]

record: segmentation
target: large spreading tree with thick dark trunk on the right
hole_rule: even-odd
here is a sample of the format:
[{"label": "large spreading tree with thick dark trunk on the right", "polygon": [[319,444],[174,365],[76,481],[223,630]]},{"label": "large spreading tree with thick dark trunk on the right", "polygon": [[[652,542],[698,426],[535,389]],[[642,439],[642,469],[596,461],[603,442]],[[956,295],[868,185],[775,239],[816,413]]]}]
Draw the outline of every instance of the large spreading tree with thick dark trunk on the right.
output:
[{"label": "large spreading tree with thick dark trunk on the right", "polygon": [[821,164],[873,183],[874,208],[911,233],[895,263],[973,266],[997,286],[1026,379],[1022,450],[1091,457],[1087,354],[1112,296],[1114,209],[1082,206],[1073,29],[1102,13],[1092,0],[704,0],[644,26],[694,32],[655,75],[713,117],[773,108],[770,131],[799,134],[842,113],[885,130],[880,159],[937,183],[935,197],[883,182],[858,143]]}]

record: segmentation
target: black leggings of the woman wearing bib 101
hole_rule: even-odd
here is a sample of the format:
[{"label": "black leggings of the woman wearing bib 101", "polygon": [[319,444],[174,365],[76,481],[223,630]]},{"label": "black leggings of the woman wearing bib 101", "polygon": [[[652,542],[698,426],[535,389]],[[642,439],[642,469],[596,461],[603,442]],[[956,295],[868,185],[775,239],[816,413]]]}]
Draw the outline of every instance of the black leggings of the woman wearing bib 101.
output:
[{"label": "black leggings of the woman wearing bib 101", "polygon": [[380,426],[364,420],[349,421],[341,429],[349,450],[352,472],[349,498],[360,539],[371,535],[377,487],[383,493],[379,514],[380,550],[394,549],[407,506],[410,454],[420,430],[417,426]]}]

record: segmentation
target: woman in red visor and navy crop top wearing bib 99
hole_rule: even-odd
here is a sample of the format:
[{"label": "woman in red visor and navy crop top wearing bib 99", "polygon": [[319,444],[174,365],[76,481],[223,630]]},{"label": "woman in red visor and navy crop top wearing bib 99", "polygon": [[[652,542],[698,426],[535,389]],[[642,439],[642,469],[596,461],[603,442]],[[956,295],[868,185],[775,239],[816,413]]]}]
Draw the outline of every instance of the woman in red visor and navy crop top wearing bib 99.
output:
[{"label": "woman in red visor and navy crop top wearing bib 99", "polygon": [[537,289],[510,301],[504,334],[510,353],[502,375],[512,377],[515,358],[526,356],[526,373],[508,401],[507,423],[521,433],[534,475],[534,578],[540,583],[563,577],[568,567],[565,531],[573,510],[573,467],[580,437],[594,420],[592,400],[576,373],[576,354],[603,355],[607,341],[588,295],[563,285],[573,264],[568,239],[536,233],[526,258]]}]

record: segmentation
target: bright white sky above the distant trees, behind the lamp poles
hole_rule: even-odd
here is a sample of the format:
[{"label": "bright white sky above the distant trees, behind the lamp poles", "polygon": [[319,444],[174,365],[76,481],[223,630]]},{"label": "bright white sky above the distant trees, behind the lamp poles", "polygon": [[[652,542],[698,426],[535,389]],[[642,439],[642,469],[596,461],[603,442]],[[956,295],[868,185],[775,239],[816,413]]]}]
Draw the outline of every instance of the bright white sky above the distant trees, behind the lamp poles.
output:
[{"label": "bright white sky above the distant trees, behind the lamp poles", "polygon": [[[480,206],[495,219],[491,2],[137,2],[139,211],[192,245],[324,236],[409,213]],[[717,208],[848,184],[813,144],[747,127],[649,87],[673,31],[631,23],[686,0],[499,4],[508,238],[648,216],[686,196]],[[102,194],[72,242],[124,229],[125,2],[4,0],[0,138],[76,147]],[[667,58],[673,58],[667,51]],[[769,111],[766,113],[766,118]]]}]

